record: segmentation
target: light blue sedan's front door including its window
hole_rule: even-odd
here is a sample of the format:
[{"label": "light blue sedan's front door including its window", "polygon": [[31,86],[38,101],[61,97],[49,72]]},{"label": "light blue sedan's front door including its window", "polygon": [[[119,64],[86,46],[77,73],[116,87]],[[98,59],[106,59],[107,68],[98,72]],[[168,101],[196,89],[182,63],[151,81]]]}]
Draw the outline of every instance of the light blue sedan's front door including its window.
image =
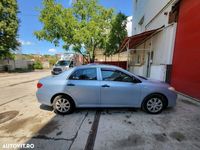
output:
[{"label": "light blue sedan's front door including its window", "polygon": [[101,68],[101,105],[134,107],[140,98],[141,87],[134,77],[109,68]]}]

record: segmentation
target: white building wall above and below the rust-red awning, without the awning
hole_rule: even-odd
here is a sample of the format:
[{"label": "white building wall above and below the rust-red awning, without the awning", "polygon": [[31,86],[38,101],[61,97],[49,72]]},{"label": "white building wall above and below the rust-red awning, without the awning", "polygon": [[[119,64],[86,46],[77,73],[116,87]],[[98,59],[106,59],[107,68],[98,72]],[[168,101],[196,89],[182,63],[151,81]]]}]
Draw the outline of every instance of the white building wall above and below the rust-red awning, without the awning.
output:
[{"label": "white building wall above and below the rust-red awning, without the awning", "polygon": [[[136,49],[145,47],[149,51],[145,51],[146,55],[143,56],[144,64],[132,66],[132,72],[158,80],[165,80],[163,73],[166,71],[163,71],[163,69],[166,68],[166,65],[172,64],[173,58],[177,25],[176,23],[168,24],[168,19],[169,12],[175,2],[177,0],[133,0],[133,35],[163,26],[164,29],[136,47]],[[147,65],[149,62],[147,61],[151,51],[153,51],[153,60],[150,63],[148,73]]]}]

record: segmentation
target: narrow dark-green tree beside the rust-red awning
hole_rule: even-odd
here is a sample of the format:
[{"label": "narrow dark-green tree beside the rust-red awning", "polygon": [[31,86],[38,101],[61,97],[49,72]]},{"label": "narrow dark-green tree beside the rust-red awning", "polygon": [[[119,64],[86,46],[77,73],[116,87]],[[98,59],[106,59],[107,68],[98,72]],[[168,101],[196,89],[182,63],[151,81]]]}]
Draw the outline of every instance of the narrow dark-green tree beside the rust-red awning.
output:
[{"label": "narrow dark-green tree beside the rust-red awning", "polygon": [[127,37],[126,24],[127,16],[121,12],[118,13],[111,23],[112,28],[106,42],[104,55],[111,56],[118,53],[122,41]]}]

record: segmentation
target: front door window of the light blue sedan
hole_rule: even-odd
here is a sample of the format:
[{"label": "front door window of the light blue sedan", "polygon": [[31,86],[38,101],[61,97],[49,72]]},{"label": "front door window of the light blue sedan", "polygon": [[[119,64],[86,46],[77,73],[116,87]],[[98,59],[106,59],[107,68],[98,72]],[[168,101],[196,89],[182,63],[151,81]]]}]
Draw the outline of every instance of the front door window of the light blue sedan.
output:
[{"label": "front door window of the light blue sedan", "polygon": [[119,71],[101,69],[103,81],[133,82],[133,77]]}]

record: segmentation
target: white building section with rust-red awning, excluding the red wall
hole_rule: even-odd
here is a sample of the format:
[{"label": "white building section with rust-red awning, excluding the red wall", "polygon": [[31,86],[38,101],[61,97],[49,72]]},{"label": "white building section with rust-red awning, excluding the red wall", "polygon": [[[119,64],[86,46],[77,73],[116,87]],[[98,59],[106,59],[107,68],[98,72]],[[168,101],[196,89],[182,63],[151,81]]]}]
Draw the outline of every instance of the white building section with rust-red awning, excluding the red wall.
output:
[{"label": "white building section with rust-red awning, excluding the red wall", "polygon": [[177,0],[133,0],[133,36],[124,49],[128,69],[138,75],[169,80],[177,28]]}]

